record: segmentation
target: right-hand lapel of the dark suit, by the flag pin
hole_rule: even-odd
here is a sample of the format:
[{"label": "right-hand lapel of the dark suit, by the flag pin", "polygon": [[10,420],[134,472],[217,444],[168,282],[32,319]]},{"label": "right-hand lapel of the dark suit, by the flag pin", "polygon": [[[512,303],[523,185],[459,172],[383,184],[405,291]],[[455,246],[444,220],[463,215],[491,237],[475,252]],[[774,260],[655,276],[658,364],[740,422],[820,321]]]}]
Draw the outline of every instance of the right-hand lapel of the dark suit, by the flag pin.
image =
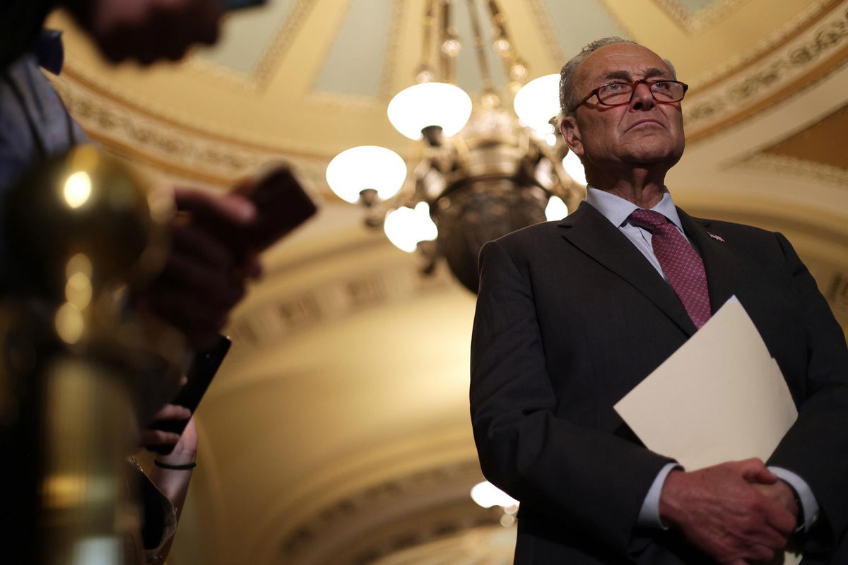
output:
[{"label": "right-hand lapel of the dark suit, by the flag pin", "polygon": [[707,230],[710,225],[709,220],[692,218],[680,208],[678,208],[678,214],[680,223],[683,224],[683,231],[695,243],[701,258],[704,259],[706,285],[710,292],[710,308],[712,313],[716,313],[718,308],[735,294],[737,283],[742,275],[742,267],[730,252],[728,243],[710,235]]}]

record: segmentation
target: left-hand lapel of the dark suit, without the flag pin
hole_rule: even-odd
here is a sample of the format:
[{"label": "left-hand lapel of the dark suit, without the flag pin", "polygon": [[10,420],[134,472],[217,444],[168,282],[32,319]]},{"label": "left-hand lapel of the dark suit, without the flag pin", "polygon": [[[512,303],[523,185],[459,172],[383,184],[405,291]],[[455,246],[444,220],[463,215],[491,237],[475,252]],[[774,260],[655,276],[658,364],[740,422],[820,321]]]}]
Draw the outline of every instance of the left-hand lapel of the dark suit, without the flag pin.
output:
[{"label": "left-hand lapel of the dark suit, without the flag pin", "polygon": [[[633,285],[686,335],[695,333],[695,324],[692,324],[671,285],[663,280],[627,236],[591,204],[581,202],[580,208],[566,216],[559,225],[563,228],[562,236],[572,245]],[[710,239],[708,235],[705,236]]]}]

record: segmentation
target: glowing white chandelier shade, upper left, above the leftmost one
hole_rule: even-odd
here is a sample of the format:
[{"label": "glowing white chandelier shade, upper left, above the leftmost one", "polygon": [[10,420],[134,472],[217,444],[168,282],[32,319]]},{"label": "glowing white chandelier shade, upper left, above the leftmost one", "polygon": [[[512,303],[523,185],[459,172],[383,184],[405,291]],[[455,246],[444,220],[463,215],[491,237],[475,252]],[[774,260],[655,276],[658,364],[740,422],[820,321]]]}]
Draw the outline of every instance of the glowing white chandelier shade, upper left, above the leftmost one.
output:
[{"label": "glowing white chandelier shade, upper left, above the leftmost one", "polygon": [[459,86],[444,82],[422,82],[404,88],[388,102],[388,121],[410,139],[421,139],[421,130],[430,125],[453,136],[471,117],[471,97]]}]

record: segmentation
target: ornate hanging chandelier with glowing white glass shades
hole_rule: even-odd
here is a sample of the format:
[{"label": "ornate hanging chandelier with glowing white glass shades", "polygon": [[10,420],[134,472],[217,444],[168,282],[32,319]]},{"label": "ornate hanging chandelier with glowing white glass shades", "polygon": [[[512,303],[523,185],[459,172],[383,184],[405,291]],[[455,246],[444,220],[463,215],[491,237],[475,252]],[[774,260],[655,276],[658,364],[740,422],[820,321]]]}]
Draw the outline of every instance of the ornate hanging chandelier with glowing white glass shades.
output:
[{"label": "ornate hanging chandelier with glowing white glass shades", "polygon": [[[561,219],[585,194],[582,165],[551,120],[559,111],[559,75],[527,81],[496,0],[479,0],[491,34],[483,36],[477,0],[467,0],[471,45],[483,89],[472,102],[455,86],[462,44],[453,25],[454,0],[427,0],[416,84],[388,103],[402,135],[422,140],[410,178],[406,164],[384,147],[339,153],[326,169],[332,191],[365,208],[365,223],[389,241],[425,258],[431,273],[444,257],[456,278],[477,292],[477,254],[486,241],[545,219]],[[487,44],[504,65],[507,85],[495,88]],[[512,99],[515,113],[504,108]],[[567,170],[567,172],[566,172]]]}]

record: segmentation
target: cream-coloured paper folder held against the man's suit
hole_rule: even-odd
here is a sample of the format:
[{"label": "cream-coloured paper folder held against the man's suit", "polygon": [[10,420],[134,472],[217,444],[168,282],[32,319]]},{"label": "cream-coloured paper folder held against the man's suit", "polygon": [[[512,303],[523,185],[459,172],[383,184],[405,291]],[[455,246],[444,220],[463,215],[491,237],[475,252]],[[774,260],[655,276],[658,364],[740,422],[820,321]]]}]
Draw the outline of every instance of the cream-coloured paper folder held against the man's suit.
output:
[{"label": "cream-coloured paper folder held against the man's suit", "polygon": [[[798,417],[778,364],[735,296],[615,408],[645,446],[688,471],[766,461]],[[784,563],[800,561],[787,554]]]}]

